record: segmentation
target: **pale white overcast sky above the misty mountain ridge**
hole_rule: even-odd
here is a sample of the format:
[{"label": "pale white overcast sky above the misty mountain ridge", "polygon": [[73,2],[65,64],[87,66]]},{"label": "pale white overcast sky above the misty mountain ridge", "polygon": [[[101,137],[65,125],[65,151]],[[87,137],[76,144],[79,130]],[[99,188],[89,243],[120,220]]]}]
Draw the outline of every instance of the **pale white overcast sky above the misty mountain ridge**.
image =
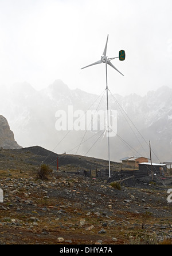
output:
[{"label": "pale white overcast sky above the misty mountain ridge", "polygon": [[172,88],[171,0],[0,0],[0,85],[29,82],[45,88],[61,79],[71,89],[100,93],[105,65],[98,61],[107,34],[111,92]]}]

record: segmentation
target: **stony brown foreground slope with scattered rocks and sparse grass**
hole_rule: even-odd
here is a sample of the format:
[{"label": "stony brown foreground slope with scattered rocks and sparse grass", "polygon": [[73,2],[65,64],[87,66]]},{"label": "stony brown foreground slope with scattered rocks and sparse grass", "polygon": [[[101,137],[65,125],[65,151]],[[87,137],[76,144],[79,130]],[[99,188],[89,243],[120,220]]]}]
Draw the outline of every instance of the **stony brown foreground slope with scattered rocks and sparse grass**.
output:
[{"label": "stony brown foreground slope with scattered rocks and sparse grass", "polygon": [[[85,178],[68,164],[40,180],[36,166],[24,161],[24,155],[35,155],[0,153],[0,244],[130,244],[150,238],[171,243],[171,178],[163,180],[167,187],[149,178],[124,180],[118,190],[111,182],[123,179],[119,174],[111,180]],[[6,164],[13,159],[19,168],[6,168],[7,156]]]}]

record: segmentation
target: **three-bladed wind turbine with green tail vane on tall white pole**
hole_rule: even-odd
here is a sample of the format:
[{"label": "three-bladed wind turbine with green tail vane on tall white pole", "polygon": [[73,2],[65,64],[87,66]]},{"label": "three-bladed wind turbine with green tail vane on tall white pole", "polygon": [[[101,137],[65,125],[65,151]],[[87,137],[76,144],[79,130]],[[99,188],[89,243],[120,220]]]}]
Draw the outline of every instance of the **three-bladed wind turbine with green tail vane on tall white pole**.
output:
[{"label": "three-bladed wind turbine with green tail vane on tall white pole", "polygon": [[[107,91],[107,122],[108,122],[108,127],[107,127],[107,132],[108,132],[108,160],[109,160],[109,176],[111,178],[111,160],[110,160],[110,136],[109,136],[109,132],[110,132],[110,127],[109,127],[109,104],[108,104],[108,78],[107,78],[107,65],[110,65],[111,67],[113,67],[116,71],[118,71],[120,73],[120,71],[118,69],[116,69],[116,67],[111,63],[112,59],[116,59],[119,58],[120,61],[124,61],[124,59],[126,58],[126,53],[125,51],[121,50],[119,52],[119,57],[115,57],[115,58],[108,58],[107,57],[107,45],[108,45],[108,37],[107,36],[107,42],[105,44],[105,48],[104,48],[104,52],[103,55],[101,56],[100,61],[94,62],[91,65],[88,65],[86,67],[90,67],[90,66],[94,66],[97,64],[101,64],[101,63],[105,63],[105,73],[106,73],[106,91]],[[85,69],[86,67],[83,67],[82,69]],[[122,73],[120,73],[122,74]],[[122,76],[124,76],[122,74]]]}]

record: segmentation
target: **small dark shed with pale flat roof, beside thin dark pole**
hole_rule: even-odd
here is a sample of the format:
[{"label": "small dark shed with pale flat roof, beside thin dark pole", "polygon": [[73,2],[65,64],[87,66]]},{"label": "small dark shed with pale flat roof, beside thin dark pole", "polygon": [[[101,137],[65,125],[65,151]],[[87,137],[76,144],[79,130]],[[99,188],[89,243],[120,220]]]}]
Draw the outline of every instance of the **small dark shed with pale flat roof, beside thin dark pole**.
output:
[{"label": "small dark shed with pale flat roof, beside thin dark pole", "polygon": [[144,173],[145,175],[151,175],[153,172],[154,174],[157,174],[159,176],[165,175],[165,172],[167,171],[167,165],[166,164],[155,164],[153,163],[140,163],[139,164],[139,172]]}]

